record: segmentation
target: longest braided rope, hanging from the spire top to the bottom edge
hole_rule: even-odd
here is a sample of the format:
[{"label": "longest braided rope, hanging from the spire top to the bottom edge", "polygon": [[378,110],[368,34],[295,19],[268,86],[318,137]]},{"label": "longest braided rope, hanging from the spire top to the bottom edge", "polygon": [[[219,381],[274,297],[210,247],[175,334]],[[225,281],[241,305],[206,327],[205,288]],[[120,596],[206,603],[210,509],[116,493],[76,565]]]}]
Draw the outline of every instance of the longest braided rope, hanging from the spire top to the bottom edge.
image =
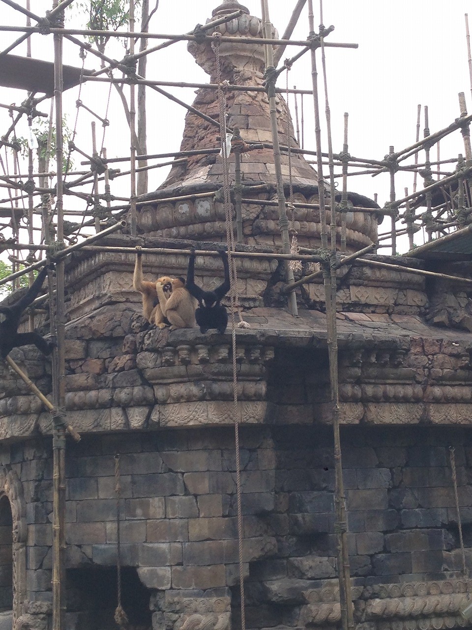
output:
[{"label": "longest braided rope, hanging from the spire top to the bottom edge", "polygon": [[245,630],[245,602],[244,602],[244,571],[243,571],[243,548],[242,548],[242,507],[241,507],[241,468],[239,451],[239,413],[238,413],[238,392],[237,392],[237,363],[236,363],[236,324],[235,311],[237,299],[237,275],[236,265],[231,253],[234,249],[234,232],[232,215],[230,212],[230,176],[228,166],[228,155],[226,146],[226,118],[225,118],[225,97],[222,89],[222,76],[220,64],[220,33],[214,33],[215,42],[213,50],[216,54],[216,83],[218,84],[218,107],[220,113],[220,136],[222,142],[222,162],[223,162],[223,192],[225,195],[226,214],[226,238],[228,245],[228,258],[230,263],[231,280],[233,290],[231,292],[231,330],[232,330],[232,352],[233,352],[233,404],[234,404],[234,430],[235,430],[235,451],[236,451],[236,498],[237,498],[237,520],[238,520],[238,551],[239,551],[239,589],[241,598],[241,629]]}]

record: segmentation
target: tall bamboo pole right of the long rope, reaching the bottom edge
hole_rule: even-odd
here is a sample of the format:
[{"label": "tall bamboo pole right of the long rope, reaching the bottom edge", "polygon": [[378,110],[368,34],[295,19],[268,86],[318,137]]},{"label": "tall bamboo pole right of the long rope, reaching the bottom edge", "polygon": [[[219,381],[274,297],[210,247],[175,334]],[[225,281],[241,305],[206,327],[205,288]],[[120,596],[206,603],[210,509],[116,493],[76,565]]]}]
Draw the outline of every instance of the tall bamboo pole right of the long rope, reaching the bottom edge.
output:
[{"label": "tall bamboo pole right of the long rope, reaching the bottom edge", "polygon": [[[324,30],[323,26],[323,4],[320,0],[320,33]],[[342,454],[341,440],[339,428],[339,376],[338,376],[338,345],[337,345],[337,322],[336,322],[336,293],[337,293],[337,277],[336,277],[336,208],[335,208],[335,187],[334,187],[334,157],[332,149],[331,137],[331,113],[328,98],[327,72],[323,36],[320,37],[323,83],[325,88],[325,115],[327,125],[328,139],[328,156],[329,156],[329,173],[330,173],[330,246],[331,254],[329,260],[329,268],[325,268],[323,274],[323,285],[325,287],[326,317],[328,329],[328,356],[330,371],[330,389],[332,404],[332,421],[334,436],[334,467],[335,467],[335,531],[337,534],[337,569],[339,580],[339,603],[341,609],[341,620],[343,630],[352,630],[354,628],[354,611],[352,609],[351,594],[351,569],[349,566],[349,549],[347,547],[347,518],[346,518],[346,500],[344,496],[344,481],[342,479]],[[346,120],[346,118],[345,118]],[[346,132],[347,134],[347,132]],[[345,134],[345,144],[347,138]],[[321,153],[321,151],[317,152]]]}]

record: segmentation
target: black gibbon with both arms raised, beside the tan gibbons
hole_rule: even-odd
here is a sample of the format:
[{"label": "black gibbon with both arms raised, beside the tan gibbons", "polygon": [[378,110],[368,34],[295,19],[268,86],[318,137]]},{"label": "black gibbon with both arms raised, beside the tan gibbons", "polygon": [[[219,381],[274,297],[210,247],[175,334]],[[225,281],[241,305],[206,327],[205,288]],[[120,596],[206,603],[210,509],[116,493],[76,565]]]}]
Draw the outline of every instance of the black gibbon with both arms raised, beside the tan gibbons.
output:
[{"label": "black gibbon with both arms raised, beside the tan gibbons", "polygon": [[204,291],[197,287],[194,282],[194,270],[195,270],[195,250],[192,248],[192,253],[188,263],[187,272],[187,284],[186,287],[193,297],[198,300],[198,309],[195,311],[196,323],[200,327],[201,333],[206,333],[210,328],[216,328],[218,333],[224,333],[228,325],[228,312],[220,300],[230,290],[230,268],[228,265],[228,255],[225,251],[221,250],[220,256],[223,260],[225,267],[225,280],[223,284],[216,287],[213,291]]}]

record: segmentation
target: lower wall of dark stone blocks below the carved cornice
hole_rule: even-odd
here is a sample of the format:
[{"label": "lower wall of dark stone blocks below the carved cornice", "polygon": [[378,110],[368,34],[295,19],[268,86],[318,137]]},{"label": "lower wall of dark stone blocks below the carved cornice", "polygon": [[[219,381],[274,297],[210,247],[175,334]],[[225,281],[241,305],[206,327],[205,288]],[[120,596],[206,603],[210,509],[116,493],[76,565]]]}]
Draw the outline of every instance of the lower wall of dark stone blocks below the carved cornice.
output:
[{"label": "lower wall of dark stone blocks below the carved cornice", "polygon": [[[247,627],[333,627],[339,621],[339,604],[332,432],[320,426],[242,427],[240,440]],[[456,448],[466,562],[471,568],[469,432],[434,427],[343,428],[358,622],[376,622],[383,598],[388,599],[384,608],[395,612],[383,614],[383,622],[390,615],[413,617],[408,627],[419,624],[422,629],[452,627],[450,621],[441,621],[446,617],[455,619],[452,625],[459,624],[456,615],[465,602],[468,583],[461,579],[449,445]],[[230,600],[233,627],[238,627],[232,430],[103,435],[70,444],[69,570],[116,565],[117,452],[121,454],[121,563],[136,568],[149,588],[154,628],[163,620],[168,627],[177,619],[181,624],[189,614],[185,613],[189,602],[193,602],[192,614],[203,616],[208,606],[215,605],[217,610],[211,614],[223,616],[221,622],[227,624]],[[47,604],[51,597],[50,441],[3,447],[0,464],[16,471],[23,485],[27,597],[45,612],[47,605],[38,602]],[[386,586],[378,586],[382,584]],[[398,592],[389,586],[395,584]],[[415,594],[423,597],[424,606],[412,616],[401,612],[403,599]],[[198,604],[201,598],[208,600],[206,609]],[[111,602],[111,609],[114,606]]]}]

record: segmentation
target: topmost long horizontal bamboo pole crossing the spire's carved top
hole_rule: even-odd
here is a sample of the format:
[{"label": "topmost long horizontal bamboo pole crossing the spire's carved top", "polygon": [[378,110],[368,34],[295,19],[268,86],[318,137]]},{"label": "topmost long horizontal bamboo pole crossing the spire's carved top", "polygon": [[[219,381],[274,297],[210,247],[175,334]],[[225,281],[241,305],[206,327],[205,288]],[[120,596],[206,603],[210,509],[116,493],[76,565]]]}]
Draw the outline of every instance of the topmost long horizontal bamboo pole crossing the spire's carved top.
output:
[{"label": "topmost long horizontal bamboo pole crossing the spire's carved top", "polygon": [[[6,2],[7,0],[1,0],[2,2]],[[8,0],[9,1],[9,0]],[[36,20],[38,18],[33,18]],[[42,18],[39,18],[40,20]],[[148,38],[148,39],[168,39],[168,40],[176,40],[186,41],[186,42],[200,42],[200,38],[195,35],[169,35],[169,33],[132,33],[130,31],[101,31],[97,29],[87,30],[84,28],[50,28],[50,33],[63,33],[65,36],[69,35],[84,35],[84,37],[94,37],[94,35],[103,36],[103,37],[123,37],[123,38]],[[40,28],[37,26],[0,26],[0,32],[12,32],[12,33],[41,33]],[[68,37],[67,37],[68,38]],[[206,35],[204,42],[213,42],[214,38],[212,35]],[[234,37],[229,37],[223,35],[220,38],[220,42],[222,43],[234,43]],[[254,46],[254,37],[238,37],[238,44],[247,43]],[[279,39],[271,39],[271,38],[257,38],[257,43],[261,44],[270,44],[273,46],[303,46],[307,47],[312,44],[309,40],[279,40]],[[87,42],[80,43],[81,48],[87,48]],[[347,42],[326,42],[325,46],[328,48],[359,48],[358,43],[347,43]],[[115,66],[116,60],[111,59],[111,64]]]}]

